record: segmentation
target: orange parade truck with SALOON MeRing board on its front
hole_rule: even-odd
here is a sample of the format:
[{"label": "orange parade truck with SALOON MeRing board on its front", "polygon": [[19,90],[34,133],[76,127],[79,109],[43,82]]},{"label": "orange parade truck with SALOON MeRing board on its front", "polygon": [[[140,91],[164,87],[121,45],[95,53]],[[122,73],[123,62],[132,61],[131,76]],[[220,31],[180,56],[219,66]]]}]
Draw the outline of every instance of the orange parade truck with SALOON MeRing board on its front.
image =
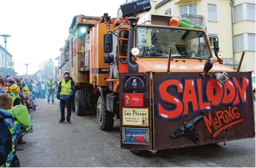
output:
[{"label": "orange parade truck with SALOON MeRing board on its front", "polygon": [[212,53],[205,30],[179,18],[138,24],[140,3],[150,10],[136,1],[111,23],[77,16],[70,28],[59,69],[74,77],[76,114],[94,110],[104,131],[119,119],[120,146],[134,154],[255,137],[252,72],[225,67],[218,41]]}]

